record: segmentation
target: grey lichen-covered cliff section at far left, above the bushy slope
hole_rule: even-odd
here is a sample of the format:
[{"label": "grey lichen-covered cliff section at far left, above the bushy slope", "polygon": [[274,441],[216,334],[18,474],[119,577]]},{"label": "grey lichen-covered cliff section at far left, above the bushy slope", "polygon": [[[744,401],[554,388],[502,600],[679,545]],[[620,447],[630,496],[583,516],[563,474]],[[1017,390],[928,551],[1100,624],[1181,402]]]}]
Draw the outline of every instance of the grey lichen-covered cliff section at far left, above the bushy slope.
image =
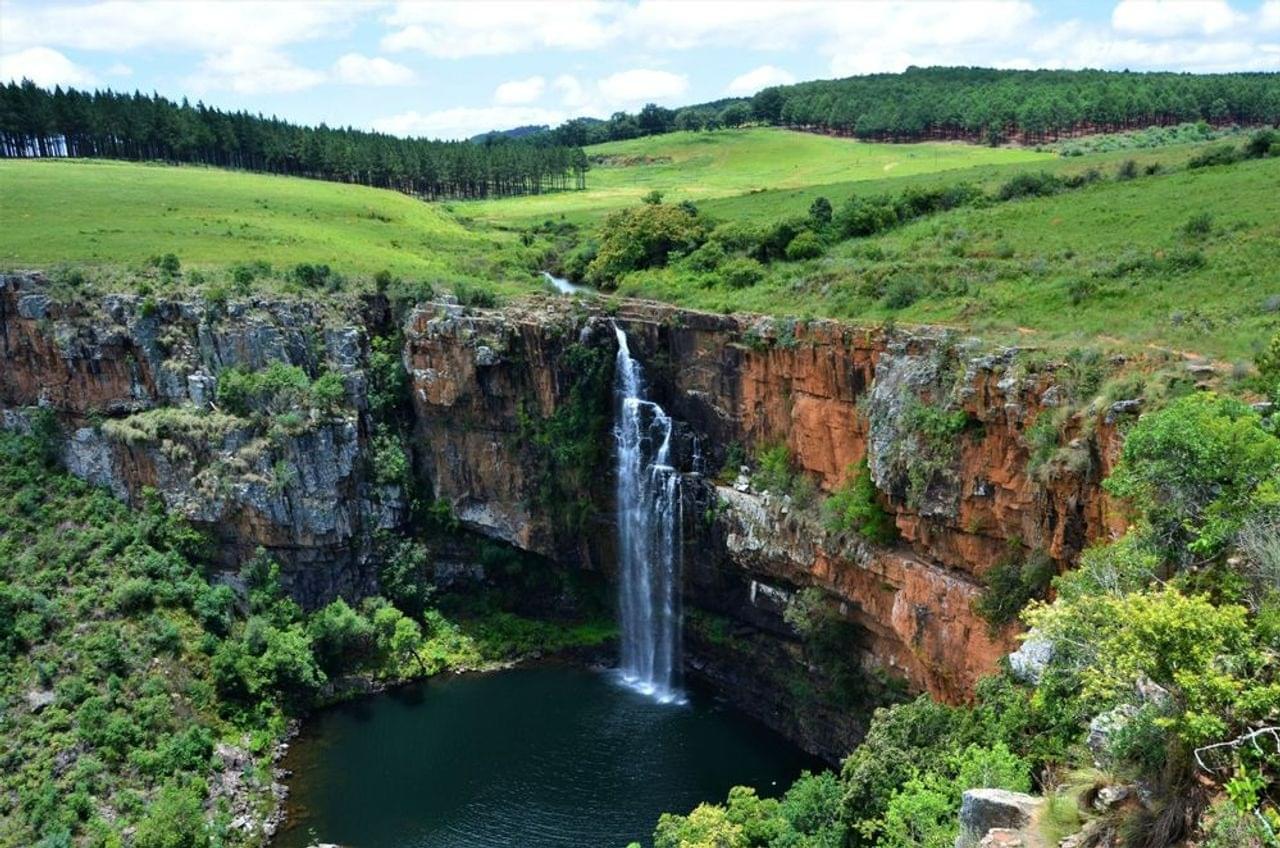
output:
[{"label": "grey lichen-covered cliff section at far left, above the bushy slope", "polygon": [[[154,489],[214,534],[228,569],[261,547],[302,602],[356,597],[374,588],[370,534],[404,518],[398,488],[366,473],[366,337],[358,314],[303,301],[64,304],[38,275],[6,275],[0,410],[18,428],[54,412],[73,474],[132,501]],[[342,375],[342,410],[256,423],[218,410],[220,374],[271,363]]]}]

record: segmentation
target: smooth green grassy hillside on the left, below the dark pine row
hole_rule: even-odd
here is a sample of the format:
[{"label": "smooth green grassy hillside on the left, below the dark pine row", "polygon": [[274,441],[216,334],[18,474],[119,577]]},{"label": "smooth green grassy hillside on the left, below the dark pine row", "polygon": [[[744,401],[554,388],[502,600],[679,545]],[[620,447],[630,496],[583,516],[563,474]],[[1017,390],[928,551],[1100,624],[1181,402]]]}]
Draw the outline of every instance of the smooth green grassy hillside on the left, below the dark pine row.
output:
[{"label": "smooth green grassy hillside on the left, below the dark pine row", "polygon": [[0,161],[0,266],[324,263],[344,274],[531,284],[508,233],[361,186],[200,167]]}]

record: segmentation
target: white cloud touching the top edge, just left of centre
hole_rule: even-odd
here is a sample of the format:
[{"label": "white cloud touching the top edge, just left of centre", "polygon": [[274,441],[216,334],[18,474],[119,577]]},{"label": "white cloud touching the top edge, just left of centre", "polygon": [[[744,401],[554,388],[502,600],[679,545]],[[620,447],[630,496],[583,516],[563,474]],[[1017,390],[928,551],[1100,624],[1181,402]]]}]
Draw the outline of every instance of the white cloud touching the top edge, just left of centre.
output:
[{"label": "white cloud touching the top edge, just left of centre", "polygon": [[594,50],[618,32],[620,6],[599,1],[399,3],[383,50],[493,56],[531,50]]}]

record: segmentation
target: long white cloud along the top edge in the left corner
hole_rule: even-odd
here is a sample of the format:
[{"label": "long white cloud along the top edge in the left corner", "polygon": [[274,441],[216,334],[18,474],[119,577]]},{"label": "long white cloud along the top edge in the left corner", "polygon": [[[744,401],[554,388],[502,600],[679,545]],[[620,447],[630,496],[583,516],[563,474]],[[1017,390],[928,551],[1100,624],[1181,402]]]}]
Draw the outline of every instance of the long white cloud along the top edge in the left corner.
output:
[{"label": "long white cloud along the top edge in the left corner", "polygon": [[5,42],[47,44],[79,50],[229,51],[279,47],[342,35],[371,6],[340,0],[270,3],[147,3],[104,0],[87,5],[5,9]]}]

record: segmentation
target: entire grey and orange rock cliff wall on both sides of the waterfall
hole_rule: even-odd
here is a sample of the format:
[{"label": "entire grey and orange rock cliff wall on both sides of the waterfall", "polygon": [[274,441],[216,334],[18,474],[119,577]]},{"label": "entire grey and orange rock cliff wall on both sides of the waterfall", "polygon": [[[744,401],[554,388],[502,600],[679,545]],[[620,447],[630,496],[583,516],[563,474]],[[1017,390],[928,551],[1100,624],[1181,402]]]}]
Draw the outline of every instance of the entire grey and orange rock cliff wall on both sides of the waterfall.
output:
[{"label": "entire grey and orange rock cliff wall on both sides of the waterfall", "polygon": [[[369,469],[369,322],[274,301],[59,305],[9,277],[0,410],[10,427],[54,410],[76,474],[127,498],[154,487],[216,533],[229,566],[261,546],[305,603],[358,596],[376,588],[372,532],[406,520],[399,489]],[[1100,488],[1114,429],[1066,421],[1064,451],[1033,474],[1028,428],[1070,387],[1016,351],[567,298],[429,304],[403,327],[419,479],[467,529],[612,571],[614,324],[677,421],[691,670],[810,749],[844,753],[863,717],[832,708],[838,685],[783,617],[797,592],[820,589],[850,626],[849,665],[959,701],[1014,643],[973,611],[983,575],[1010,552],[1068,567],[1114,529]],[[225,369],[273,361],[340,374],[344,411],[264,433],[211,406]],[[901,541],[833,533],[817,505],[723,469],[777,444],[826,492],[867,460]]]}]

